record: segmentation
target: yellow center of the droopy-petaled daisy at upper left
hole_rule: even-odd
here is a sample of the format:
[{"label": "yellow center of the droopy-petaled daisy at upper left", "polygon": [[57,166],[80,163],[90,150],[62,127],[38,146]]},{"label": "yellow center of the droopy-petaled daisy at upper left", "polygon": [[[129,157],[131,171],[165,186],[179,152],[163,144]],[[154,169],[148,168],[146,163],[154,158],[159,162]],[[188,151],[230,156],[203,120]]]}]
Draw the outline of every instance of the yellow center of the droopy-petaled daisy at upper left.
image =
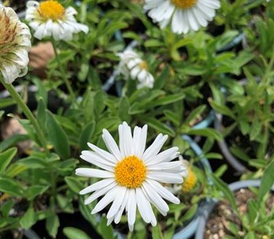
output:
[{"label": "yellow center of the droopy-petaled daisy at upper left", "polygon": [[57,20],[62,18],[65,9],[58,1],[49,0],[40,3],[38,12],[42,18]]}]

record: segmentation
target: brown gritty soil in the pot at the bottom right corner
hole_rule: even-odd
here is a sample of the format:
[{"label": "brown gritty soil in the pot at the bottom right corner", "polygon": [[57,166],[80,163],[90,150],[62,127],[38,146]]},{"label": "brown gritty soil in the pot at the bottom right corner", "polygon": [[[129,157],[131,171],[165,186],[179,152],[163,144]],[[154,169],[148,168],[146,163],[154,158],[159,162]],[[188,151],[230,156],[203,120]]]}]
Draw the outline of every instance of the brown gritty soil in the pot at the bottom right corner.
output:
[{"label": "brown gritty soil in the pot at the bottom right corner", "polygon": [[[252,191],[247,188],[241,188],[235,193],[236,203],[240,214],[247,213],[247,202],[251,198],[256,196]],[[269,196],[266,200],[266,211],[271,212],[271,208],[274,205],[274,193]],[[206,225],[206,231],[204,233],[204,239],[221,239],[225,236],[235,237],[229,232],[229,224],[234,223],[238,225],[240,230],[238,231],[239,236],[245,236],[242,231],[242,225],[238,216],[233,212],[232,207],[228,201],[221,201],[214,209],[213,213],[210,215],[210,219]]]}]

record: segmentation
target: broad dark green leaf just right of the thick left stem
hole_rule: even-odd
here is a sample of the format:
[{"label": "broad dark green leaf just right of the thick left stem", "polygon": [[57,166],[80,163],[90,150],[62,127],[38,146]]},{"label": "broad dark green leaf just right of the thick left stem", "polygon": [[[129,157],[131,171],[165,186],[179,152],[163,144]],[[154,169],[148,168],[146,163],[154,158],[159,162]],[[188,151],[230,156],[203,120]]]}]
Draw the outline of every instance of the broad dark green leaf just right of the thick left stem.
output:
[{"label": "broad dark green leaf just right of the thick left stem", "polygon": [[62,156],[62,158],[69,158],[69,139],[66,136],[66,132],[64,132],[50,111],[47,111],[47,130],[55,151]]}]

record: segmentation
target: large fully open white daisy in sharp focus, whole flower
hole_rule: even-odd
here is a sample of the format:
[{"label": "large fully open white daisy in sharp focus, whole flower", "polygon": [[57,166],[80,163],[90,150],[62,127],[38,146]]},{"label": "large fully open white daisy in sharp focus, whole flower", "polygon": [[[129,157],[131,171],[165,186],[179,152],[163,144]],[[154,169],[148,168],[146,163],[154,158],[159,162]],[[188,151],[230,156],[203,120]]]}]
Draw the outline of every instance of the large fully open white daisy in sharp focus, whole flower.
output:
[{"label": "large fully open white daisy in sharp focus, whole flower", "polygon": [[171,162],[177,158],[178,148],[171,147],[160,152],[167,138],[167,135],[158,135],[145,150],[147,125],[142,128],[136,126],[132,136],[131,128],[123,122],[119,126],[119,147],[105,129],[103,141],[110,152],[88,143],[93,151],[83,151],[80,157],[103,169],[76,169],[79,176],[103,178],[80,191],[82,195],[94,192],[86,198],[85,204],[104,195],[91,213],[100,212],[112,202],[107,214],[108,225],[112,221],[119,223],[125,210],[130,231],[134,228],[136,208],[142,219],[153,226],[157,221],[151,203],[166,216],[169,206],[164,199],[173,203],[179,203],[179,199],[160,183],[183,182],[180,175],[182,163],[179,160]]}]

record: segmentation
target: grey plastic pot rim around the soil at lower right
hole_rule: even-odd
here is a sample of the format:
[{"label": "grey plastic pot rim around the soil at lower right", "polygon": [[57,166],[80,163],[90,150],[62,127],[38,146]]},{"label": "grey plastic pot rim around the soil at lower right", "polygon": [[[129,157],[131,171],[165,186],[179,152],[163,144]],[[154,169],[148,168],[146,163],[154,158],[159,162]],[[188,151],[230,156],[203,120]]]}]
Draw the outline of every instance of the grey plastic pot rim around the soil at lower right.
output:
[{"label": "grey plastic pot rim around the soil at lower right", "polygon": [[[261,180],[244,180],[244,181],[238,181],[238,182],[233,182],[232,184],[229,184],[229,189],[232,192],[235,192],[235,191],[238,191],[240,188],[248,188],[249,186],[255,186],[258,188],[260,187],[260,184],[261,184]],[[274,185],[272,186],[271,191],[274,192]],[[208,205],[204,208],[203,213],[199,217],[199,223],[197,227],[197,232],[195,234],[195,239],[203,239],[203,234],[206,229],[206,223],[217,203],[218,203],[217,200],[211,199]]]}]

